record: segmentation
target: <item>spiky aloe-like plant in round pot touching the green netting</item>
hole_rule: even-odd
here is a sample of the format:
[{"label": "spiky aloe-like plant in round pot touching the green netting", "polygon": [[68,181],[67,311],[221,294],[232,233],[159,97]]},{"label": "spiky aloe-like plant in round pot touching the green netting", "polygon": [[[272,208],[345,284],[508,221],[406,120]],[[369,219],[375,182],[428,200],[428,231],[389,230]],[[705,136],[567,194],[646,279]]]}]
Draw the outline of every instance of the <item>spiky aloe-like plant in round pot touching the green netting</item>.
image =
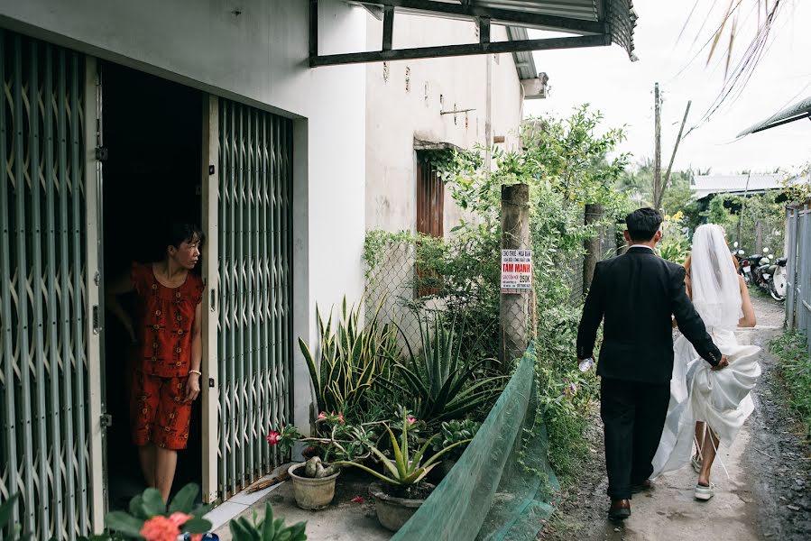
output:
[{"label": "spiky aloe-like plant in round pot touching the green netting", "polygon": [[369,486],[369,493],[374,500],[377,519],[383,527],[392,531],[399,530],[409,518],[419,509],[419,506],[428,498],[433,485],[425,482],[425,476],[429,474],[439,464],[438,460],[443,454],[450,452],[459,445],[464,445],[470,440],[456,442],[448,445],[437,454],[431,456],[425,463],[422,458],[436,436],[429,437],[419,450],[411,455],[409,449],[409,429],[417,419],[403,412],[402,432],[400,441],[394,436],[392,429],[385,426],[386,432],[392,442],[392,454],[394,459],[390,459],[375,446],[371,446],[371,452],[381,461],[383,472],[375,472],[372,468],[362,463],[336,462],[338,466],[354,466],[364,472],[371,473],[376,478],[383,481],[383,484],[374,482]]}]

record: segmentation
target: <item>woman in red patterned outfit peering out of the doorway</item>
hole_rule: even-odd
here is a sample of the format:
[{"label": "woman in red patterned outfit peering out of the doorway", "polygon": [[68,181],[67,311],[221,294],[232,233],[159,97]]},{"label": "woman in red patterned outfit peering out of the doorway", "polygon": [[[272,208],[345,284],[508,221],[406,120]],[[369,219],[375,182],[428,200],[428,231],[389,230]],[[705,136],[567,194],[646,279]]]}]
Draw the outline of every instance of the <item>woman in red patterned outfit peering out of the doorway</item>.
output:
[{"label": "woman in red patterned outfit peering out of the doorway", "polygon": [[[200,392],[200,303],[203,281],[190,271],[200,258],[202,232],[174,224],[162,261],[133,263],[106,287],[107,307],[134,344],[130,424],[143,476],[169,500],[178,451],[189,441],[191,402]],[[118,296],[134,291],[133,315]]]}]

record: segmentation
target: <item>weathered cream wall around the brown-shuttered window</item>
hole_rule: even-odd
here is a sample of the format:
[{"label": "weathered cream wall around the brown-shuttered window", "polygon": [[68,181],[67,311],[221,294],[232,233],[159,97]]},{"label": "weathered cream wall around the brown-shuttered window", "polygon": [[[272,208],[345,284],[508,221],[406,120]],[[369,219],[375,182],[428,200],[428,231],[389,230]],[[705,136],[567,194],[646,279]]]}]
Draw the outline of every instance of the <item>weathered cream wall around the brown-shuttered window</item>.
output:
[{"label": "weathered cream wall around the brown-shuttered window", "polygon": [[[367,49],[381,47],[382,22],[369,16]],[[493,41],[507,39],[493,26]],[[393,46],[425,47],[478,41],[475,24],[397,14]],[[366,67],[366,229],[416,231],[414,138],[463,148],[483,144],[486,62],[493,62],[493,136],[515,148],[521,123],[521,84],[511,54],[371,63]],[[442,104],[440,104],[440,96]],[[475,109],[439,115],[440,109]],[[456,120],[456,122],[455,122]],[[445,231],[461,213],[446,194]]]}]

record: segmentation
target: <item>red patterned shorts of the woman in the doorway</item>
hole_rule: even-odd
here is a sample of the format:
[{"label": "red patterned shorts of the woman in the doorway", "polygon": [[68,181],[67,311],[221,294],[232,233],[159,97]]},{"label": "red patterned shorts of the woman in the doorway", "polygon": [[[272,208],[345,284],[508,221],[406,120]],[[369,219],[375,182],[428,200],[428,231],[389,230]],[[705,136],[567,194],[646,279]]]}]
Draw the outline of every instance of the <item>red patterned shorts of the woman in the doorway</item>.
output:
[{"label": "red patterned shorts of the woman in the doorway", "polygon": [[189,444],[191,402],[186,399],[184,378],[161,378],[133,372],[130,420],[135,445],[185,449]]}]

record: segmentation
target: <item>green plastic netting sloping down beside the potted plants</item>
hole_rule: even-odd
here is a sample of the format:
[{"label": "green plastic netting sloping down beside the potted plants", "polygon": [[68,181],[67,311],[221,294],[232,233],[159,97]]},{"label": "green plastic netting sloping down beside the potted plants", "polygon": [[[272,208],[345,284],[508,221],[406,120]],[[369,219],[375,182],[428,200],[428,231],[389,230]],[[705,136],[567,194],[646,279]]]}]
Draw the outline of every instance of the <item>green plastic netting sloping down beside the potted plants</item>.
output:
[{"label": "green plastic netting sloping down beside the potted plants", "polygon": [[546,430],[536,417],[535,361],[530,344],[465,453],[392,541],[538,536],[559,487],[548,463]]}]

